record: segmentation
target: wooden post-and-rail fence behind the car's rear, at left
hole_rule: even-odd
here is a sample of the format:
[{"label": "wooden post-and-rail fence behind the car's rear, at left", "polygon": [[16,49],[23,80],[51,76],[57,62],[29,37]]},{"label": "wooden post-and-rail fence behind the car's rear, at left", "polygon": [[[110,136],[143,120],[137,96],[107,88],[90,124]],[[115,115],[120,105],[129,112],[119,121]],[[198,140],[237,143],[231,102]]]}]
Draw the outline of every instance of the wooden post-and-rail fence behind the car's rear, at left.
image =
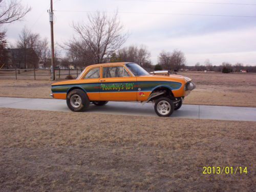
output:
[{"label": "wooden post-and-rail fence behind the car's rear, at left", "polygon": [[[55,69],[55,79],[76,78],[83,69]],[[50,80],[51,69],[0,69],[0,79]]]}]

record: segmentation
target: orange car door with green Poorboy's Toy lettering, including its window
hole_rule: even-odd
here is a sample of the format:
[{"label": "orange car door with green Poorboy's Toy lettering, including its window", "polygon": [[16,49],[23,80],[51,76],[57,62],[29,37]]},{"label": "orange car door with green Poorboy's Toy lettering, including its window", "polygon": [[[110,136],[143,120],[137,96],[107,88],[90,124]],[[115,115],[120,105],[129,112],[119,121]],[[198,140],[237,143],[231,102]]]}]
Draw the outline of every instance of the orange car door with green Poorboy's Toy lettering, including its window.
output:
[{"label": "orange car door with green Poorboy's Toy lettering, including its window", "polygon": [[137,82],[123,66],[103,66],[100,78],[101,100],[137,100]]}]

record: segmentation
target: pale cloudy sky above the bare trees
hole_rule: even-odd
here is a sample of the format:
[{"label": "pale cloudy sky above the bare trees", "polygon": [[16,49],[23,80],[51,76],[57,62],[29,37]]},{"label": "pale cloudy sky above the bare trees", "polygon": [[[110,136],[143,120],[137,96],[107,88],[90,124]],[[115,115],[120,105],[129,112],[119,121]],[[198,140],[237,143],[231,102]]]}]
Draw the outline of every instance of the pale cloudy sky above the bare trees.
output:
[{"label": "pale cloudy sky above the bare trees", "polygon": [[[197,62],[204,64],[206,59],[216,66],[222,62],[256,66],[255,0],[53,1],[54,38],[58,44],[63,44],[75,35],[72,22],[88,22],[88,12],[106,11],[112,15],[118,11],[124,32],[130,34],[123,47],[145,46],[151,52],[154,65],[161,51],[181,50],[188,66]],[[10,44],[15,45],[24,26],[50,40],[47,13],[50,0],[22,0],[22,3],[31,6],[32,11],[23,21],[5,25]]]}]

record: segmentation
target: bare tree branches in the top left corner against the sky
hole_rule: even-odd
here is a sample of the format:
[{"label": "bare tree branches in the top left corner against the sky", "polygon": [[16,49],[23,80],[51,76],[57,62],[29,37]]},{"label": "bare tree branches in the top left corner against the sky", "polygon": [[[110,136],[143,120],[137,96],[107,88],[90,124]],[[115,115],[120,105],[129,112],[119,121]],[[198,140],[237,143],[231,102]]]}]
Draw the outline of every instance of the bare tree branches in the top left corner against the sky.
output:
[{"label": "bare tree branches in the top left corner against the sky", "polygon": [[0,0],[0,24],[21,20],[29,11],[31,7],[24,7],[18,0]]}]

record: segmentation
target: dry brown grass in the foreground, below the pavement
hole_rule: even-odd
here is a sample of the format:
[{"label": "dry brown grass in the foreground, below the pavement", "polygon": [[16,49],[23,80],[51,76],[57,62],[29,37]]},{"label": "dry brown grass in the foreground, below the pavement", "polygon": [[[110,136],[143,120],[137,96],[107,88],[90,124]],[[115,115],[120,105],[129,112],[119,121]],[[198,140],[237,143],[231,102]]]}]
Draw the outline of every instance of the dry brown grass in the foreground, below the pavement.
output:
[{"label": "dry brown grass in the foreground, below the pavement", "polygon": [[[256,122],[16,109],[0,117],[1,191],[255,189]],[[203,166],[248,174],[203,175]]]}]

